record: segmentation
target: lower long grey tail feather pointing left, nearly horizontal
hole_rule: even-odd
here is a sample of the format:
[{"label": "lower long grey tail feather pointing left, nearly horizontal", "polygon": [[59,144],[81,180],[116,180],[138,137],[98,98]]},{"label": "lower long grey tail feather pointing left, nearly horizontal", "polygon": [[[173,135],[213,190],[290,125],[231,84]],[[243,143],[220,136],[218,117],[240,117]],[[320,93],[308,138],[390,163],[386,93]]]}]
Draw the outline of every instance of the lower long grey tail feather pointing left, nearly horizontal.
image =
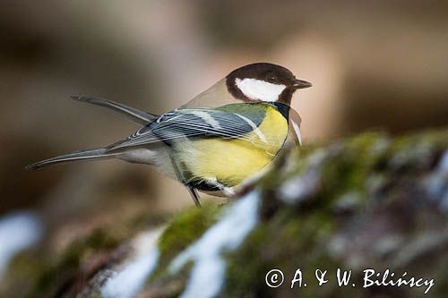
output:
[{"label": "lower long grey tail feather pointing left, nearly horizontal", "polygon": [[99,160],[106,158],[113,158],[117,153],[107,153],[107,149],[87,149],[82,151],[76,151],[70,154],[58,156],[56,158],[49,158],[39,161],[37,163],[25,166],[27,170],[38,170],[45,166],[53,166],[56,164],[69,163],[73,161],[89,161]]}]

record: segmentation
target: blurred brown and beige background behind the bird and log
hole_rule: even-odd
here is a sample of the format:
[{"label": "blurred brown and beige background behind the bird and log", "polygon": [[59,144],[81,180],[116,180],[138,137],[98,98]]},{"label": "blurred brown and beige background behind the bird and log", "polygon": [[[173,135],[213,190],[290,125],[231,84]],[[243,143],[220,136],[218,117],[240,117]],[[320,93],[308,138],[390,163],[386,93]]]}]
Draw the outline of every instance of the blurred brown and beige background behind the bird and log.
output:
[{"label": "blurred brown and beige background behind the bird and log", "polygon": [[[23,166],[138,127],[71,95],[162,113],[243,64],[281,64],[314,87],[294,107],[306,142],[448,124],[442,1],[2,1],[0,215],[93,220],[193,204],[150,166]],[[100,211],[99,211],[100,210]]]}]

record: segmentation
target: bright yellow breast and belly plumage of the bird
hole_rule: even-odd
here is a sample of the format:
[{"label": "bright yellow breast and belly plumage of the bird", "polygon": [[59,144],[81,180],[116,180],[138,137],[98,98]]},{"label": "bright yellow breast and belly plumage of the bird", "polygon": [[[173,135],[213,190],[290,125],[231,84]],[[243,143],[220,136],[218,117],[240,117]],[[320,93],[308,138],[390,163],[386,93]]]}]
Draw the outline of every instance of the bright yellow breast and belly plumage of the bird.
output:
[{"label": "bright yellow breast and belly plumage of the bird", "polygon": [[192,175],[190,179],[216,178],[234,186],[268,165],[288,135],[288,121],[273,106],[257,131],[242,139],[211,138],[188,141],[177,148],[177,158]]}]

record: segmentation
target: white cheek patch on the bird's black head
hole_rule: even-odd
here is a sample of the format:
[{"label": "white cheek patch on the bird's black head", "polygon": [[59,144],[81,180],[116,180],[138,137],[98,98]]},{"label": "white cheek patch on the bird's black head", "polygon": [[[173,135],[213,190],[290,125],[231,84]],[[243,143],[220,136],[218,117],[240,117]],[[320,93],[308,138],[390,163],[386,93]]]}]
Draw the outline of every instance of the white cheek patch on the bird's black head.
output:
[{"label": "white cheek patch on the bird's black head", "polygon": [[272,84],[256,79],[241,80],[237,78],[235,83],[247,98],[263,101],[276,101],[281,92],[286,88],[285,85]]}]

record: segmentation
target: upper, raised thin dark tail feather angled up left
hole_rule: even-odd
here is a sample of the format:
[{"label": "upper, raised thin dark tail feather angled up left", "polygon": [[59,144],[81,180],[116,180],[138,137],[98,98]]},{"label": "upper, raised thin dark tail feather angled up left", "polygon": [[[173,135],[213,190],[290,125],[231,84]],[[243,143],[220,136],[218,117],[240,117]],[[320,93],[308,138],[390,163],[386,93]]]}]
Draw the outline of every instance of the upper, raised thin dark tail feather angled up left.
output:
[{"label": "upper, raised thin dark tail feather angled up left", "polygon": [[127,119],[131,120],[132,122],[139,123],[142,125],[146,125],[159,118],[159,115],[152,115],[150,113],[143,112],[134,107],[125,106],[123,104],[119,104],[104,98],[91,98],[83,96],[73,96],[71,98],[73,100],[87,102],[92,105],[107,107],[119,115],[124,115]]}]

